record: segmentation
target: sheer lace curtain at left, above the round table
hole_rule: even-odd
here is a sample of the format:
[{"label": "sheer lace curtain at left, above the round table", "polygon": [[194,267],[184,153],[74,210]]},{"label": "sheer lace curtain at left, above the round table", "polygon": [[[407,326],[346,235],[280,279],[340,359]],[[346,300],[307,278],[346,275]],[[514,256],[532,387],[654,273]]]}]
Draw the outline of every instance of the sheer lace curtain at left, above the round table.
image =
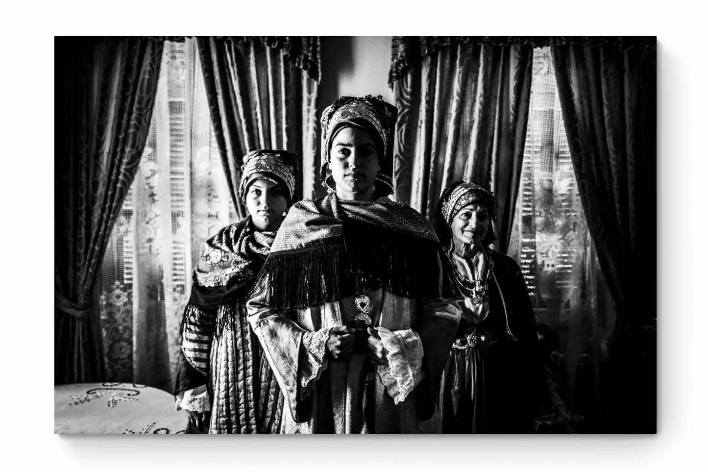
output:
[{"label": "sheer lace curtain at left, above the round table", "polygon": [[168,41],[147,146],[103,262],[108,381],[172,391],[191,271],[235,218],[195,40]]}]

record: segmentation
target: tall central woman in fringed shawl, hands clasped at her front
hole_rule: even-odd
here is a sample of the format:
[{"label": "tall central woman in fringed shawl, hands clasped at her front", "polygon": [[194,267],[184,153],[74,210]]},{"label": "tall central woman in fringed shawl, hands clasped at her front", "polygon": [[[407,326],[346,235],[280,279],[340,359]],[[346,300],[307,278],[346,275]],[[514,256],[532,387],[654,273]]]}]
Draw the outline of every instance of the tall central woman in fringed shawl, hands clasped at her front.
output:
[{"label": "tall central woman in fringed shawl, hands clasped at her front", "polygon": [[459,322],[433,228],[395,203],[396,108],[341,97],[321,118],[329,195],[292,207],[249,300],[287,433],[421,432]]}]

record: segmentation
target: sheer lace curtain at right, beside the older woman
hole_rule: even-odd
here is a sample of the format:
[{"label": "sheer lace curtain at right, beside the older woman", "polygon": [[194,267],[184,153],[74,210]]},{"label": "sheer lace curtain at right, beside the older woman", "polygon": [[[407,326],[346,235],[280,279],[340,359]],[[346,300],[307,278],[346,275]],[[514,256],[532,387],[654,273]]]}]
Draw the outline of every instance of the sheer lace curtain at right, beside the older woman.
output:
[{"label": "sheer lace curtain at right, beside the older woman", "polygon": [[[599,418],[612,320],[588,233],[548,47],[534,51],[523,171],[508,254],[524,273],[548,364],[582,431]],[[571,412],[569,412],[571,413]],[[579,424],[580,423],[580,424]]]}]

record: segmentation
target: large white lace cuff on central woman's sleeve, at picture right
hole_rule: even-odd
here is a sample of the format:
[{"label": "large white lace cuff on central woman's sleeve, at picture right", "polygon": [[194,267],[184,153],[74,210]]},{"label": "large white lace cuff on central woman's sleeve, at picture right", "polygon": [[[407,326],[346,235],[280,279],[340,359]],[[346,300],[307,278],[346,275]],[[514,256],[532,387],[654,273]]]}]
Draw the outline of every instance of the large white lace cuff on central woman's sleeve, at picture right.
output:
[{"label": "large white lace cuff on central woman's sleeve, at picture right", "polygon": [[381,381],[398,405],[423,379],[423,344],[412,330],[389,331],[379,327],[379,336],[389,352],[388,366],[378,366]]}]

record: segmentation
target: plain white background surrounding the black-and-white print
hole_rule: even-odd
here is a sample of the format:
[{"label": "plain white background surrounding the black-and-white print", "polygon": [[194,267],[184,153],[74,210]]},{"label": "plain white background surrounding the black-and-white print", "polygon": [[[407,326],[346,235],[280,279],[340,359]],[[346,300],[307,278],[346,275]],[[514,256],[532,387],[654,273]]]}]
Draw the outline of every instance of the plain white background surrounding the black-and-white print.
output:
[{"label": "plain white background surrounding the black-and-white print", "polygon": [[[249,3],[244,5],[244,3]],[[708,27],[692,5],[570,1],[61,1],[0,19],[0,444],[6,470],[612,471],[704,468]],[[54,35],[657,35],[659,434],[53,434]],[[655,254],[646,254],[653,258]],[[636,274],[638,277],[644,274]],[[647,293],[646,296],[652,296]],[[701,315],[700,313],[703,313]],[[694,465],[695,464],[695,465]]]}]

